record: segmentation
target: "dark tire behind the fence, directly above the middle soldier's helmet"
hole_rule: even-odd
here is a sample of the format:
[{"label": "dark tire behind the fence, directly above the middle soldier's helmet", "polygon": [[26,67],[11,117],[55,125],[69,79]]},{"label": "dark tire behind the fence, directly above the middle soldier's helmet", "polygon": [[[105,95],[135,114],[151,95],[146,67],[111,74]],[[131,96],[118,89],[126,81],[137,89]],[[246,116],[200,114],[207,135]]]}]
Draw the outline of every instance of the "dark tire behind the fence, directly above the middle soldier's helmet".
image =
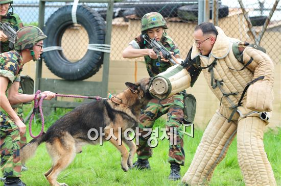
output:
[{"label": "dark tire behind the fence, directly above the middle soldier's helmet", "polygon": [[135,5],[135,14],[138,17],[143,17],[146,13],[158,12],[163,17],[177,17],[177,8],[182,5],[183,4],[137,4]]}]

